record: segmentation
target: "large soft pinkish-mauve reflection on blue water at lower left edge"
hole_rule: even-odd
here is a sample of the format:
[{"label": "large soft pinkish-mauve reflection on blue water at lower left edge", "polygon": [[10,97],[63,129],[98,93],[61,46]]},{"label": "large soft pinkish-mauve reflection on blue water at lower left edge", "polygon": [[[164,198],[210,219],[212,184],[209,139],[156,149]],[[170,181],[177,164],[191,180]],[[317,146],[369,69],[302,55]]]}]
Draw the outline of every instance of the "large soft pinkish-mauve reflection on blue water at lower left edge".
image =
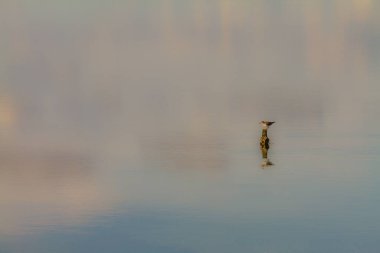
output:
[{"label": "large soft pinkish-mauve reflection on blue water at lower left edge", "polygon": [[115,204],[86,150],[0,145],[0,151],[1,236],[84,224]]}]

